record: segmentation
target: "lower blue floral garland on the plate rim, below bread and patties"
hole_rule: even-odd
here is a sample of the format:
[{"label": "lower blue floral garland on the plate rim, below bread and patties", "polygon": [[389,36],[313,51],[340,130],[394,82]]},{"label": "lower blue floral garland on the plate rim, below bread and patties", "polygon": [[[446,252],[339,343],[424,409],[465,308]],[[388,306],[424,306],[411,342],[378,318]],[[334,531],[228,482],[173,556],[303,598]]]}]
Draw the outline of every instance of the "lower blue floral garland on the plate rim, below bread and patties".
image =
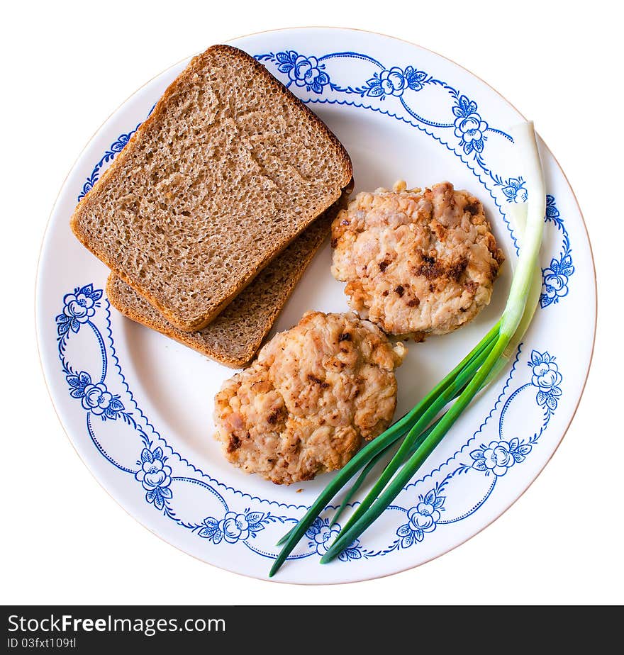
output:
[{"label": "lower blue floral garland on the plate rim, below bread and patties", "polygon": [[[82,296],[84,296],[84,298],[82,298]],[[91,303],[87,302],[87,298],[96,298],[96,300],[94,300],[91,305]],[[108,391],[106,381],[108,366],[106,365],[106,362],[108,361],[108,357],[112,357],[115,361],[117,360],[110,327],[110,310],[108,301],[106,301],[104,306],[104,314],[101,314],[102,307],[101,303],[99,303],[99,298],[101,298],[101,290],[94,289],[91,284],[77,287],[74,289],[74,293],[67,293],[63,298],[64,306],[72,308],[69,312],[72,320],[74,315],[76,318],[80,319],[78,330],[82,329],[82,327],[88,326],[94,334],[96,343],[100,346],[105,343],[105,340],[101,335],[97,322],[102,318],[105,321],[106,331],[108,332],[107,339],[110,346],[104,347],[101,351],[104,359],[103,362],[101,362],[101,370],[103,373],[99,381],[94,382],[89,371],[82,369],[74,370],[74,367],[66,357],[68,342],[72,338],[72,335],[77,334],[78,330],[57,330],[59,332],[57,336],[59,358],[69,386],[69,395],[72,396],[72,398],[81,401],[82,408],[87,413],[89,435],[95,446],[100,450],[101,454],[108,459],[108,461],[111,461],[111,464],[117,466],[121,471],[133,474],[135,480],[143,487],[146,503],[153,505],[155,510],[160,511],[163,515],[169,517],[169,519],[176,522],[180,527],[190,530],[198,537],[211,542],[214,546],[223,544],[235,546],[235,544],[242,543],[245,544],[248,549],[252,550],[252,552],[257,553],[260,556],[274,557],[277,554],[277,549],[274,546],[275,539],[273,532],[273,541],[264,543],[262,547],[255,547],[253,541],[268,526],[286,525],[288,523],[296,522],[298,514],[292,513],[291,511],[290,514],[274,515],[270,512],[263,512],[254,508],[245,508],[243,511],[238,511],[235,510],[235,508],[230,507],[223,496],[223,491],[218,490],[221,483],[213,478],[208,478],[208,482],[206,482],[204,480],[204,478],[206,478],[205,474],[202,474],[199,469],[196,469],[197,474],[199,475],[196,474],[195,476],[177,474],[174,466],[169,462],[169,457],[165,455],[165,449],[170,449],[167,442],[165,442],[157,432],[154,432],[153,437],[148,436],[143,427],[141,427],[137,420],[135,420],[133,413],[126,410],[120,397],[111,393],[111,391]],[[82,302],[79,302],[79,300]],[[73,303],[78,303],[80,309],[74,308]],[[91,307],[95,308],[96,305],[96,312],[92,315],[87,315],[89,314],[88,310]],[[64,323],[59,323],[60,316],[66,317],[67,313],[64,311],[62,314],[57,315],[57,326],[65,325],[67,323],[66,321]],[[518,357],[520,357],[520,352],[518,352]],[[505,388],[503,388],[503,393],[499,396],[499,402],[503,396],[506,395],[506,389],[511,383],[513,373],[516,370],[518,357],[516,358],[516,363],[513,366],[507,384]],[[360,542],[358,539],[353,544],[350,544],[350,547],[345,549],[345,552],[340,555],[341,561],[347,562],[360,559],[370,559],[377,556],[386,556],[396,550],[410,548],[415,544],[423,542],[427,534],[434,532],[441,525],[461,520],[461,518],[447,520],[444,517],[444,514],[447,513],[447,508],[449,507],[448,498],[450,496],[452,497],[452,493],[450,493],[452,492],[452,481],[456,476],[467,474],[469,471],[474,471],[475,474],[484,475],[486,477],[494,476],[494,483],[491,484],[488,493],[486,493],[486,495],[474,505],[471,513],[477,511],[477,509],[486,502],[491,492],[494,491],[496,479],[508,474],[513,466],[522,464],[526,457],[528,457],[535,444],[537,444],[541,433],[547,427],[552,413],[557,409],[559,398],[562,396],[561,384],[563,376],[559,372],[559,367],[555,362],[555,357],[547,351],[537,352],[537,350],[533,350],[530,360],[528,361],[528,366],[531,371],[530,381],[516,388],[516,391],[506,398],[500,417],[500,438],[497,440],[490,440],[487,444],[481,444],[477,449],[473,449],[472,452],[469,453],[469,456],[472,459],[470,463],[459,461],[455,469],[452,469],[452,471],[450,471],[445,478],[435,486],[435,488],[430,489],[424,494],[420,494],[416,504],[409,507],[393,505],[389,510],[386,510],[386,512],[391,511],[393,513],[403,513],[405,517],[403,522],[395,528],[394,532],[397,538],[394,542],[389,544],[389,546],[382,549],[370,549],[366,546],[365,542]],[[118,366],[118,369],[119,375],[122,376],[123,380],[121,367]],[[529,388],[536,390],[535,403],[537,403],[537,406],[544,409],[542,425],[537,432],[526,439],[520,439],[518,437],[512,437],[510,439],[504,438],[502,430],[503,416],[511,405],[513,399],[525,389]],[[143,415],[143,413],[140,412],[140,415]],[[97,428],[96,425],[91,422],[92,416],[99,418],[102,422],[107,419],[116,420],[118,417],[121,417],[124,422],[132,428],[134,434],[138,437],[138,459],[135,461],[134,468],[122,466],[112,459],[108,452],[106,452],[106,449],[104,449],[100,440],[96,437]],[[147,425],[151,427],[151,424],[147,423]],[[472,439],[474,439],[474,437],[472,437]],[[162,445],[157,445],[157,441],[161,442]],[[172,452],[177,454],[174,451]],[[457,454],[460,453],[461,451]],[[177,455],[178,457],[181,457],[179,454]],[[201,522],[186,522],[182,520],[178,516],[177,510],[174,507],[174,483],[192,483],[201,486],[210,493],[211,496],[218,499],[219,506],[222,508],[222,514],[208,515],[204,517]],[[406,490],[416,483],[417,482],[412,482],[408,484]],[[442,494],[442,491],[445,491],[445,489],[446,493]],[[270,502],[269,500],[260,498],[256,500],[260,503]],[[286,508],[286,506],[284,507]],[[290,505],[287,507],[292,510]],[[331,508],[328,508],[328,511],[329,510],[331,510]],[[462,515],[462,518],[463,517],[465,516]],[[318,517],[306,532],[306,537],[308,539],[306,550],[295,554],[294,557],[301,558],[301,556],[307,557],[311,555],[323,556],[339,531],[340,525],[331,525],[327,516]]]}]

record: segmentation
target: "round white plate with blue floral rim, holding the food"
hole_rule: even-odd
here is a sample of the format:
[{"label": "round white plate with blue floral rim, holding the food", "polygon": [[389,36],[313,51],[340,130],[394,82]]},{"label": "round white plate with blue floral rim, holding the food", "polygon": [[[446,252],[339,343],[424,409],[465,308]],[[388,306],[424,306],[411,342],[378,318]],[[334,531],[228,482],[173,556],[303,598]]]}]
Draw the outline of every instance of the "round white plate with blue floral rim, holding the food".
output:
[{"label": "round white plate with blue floral rim, holding the food", "polygon": [[[479,196],[508,262],[511,203],[525,196],[508,136],[520,114],[496,91],[433,52],[355,30],[302,28],[240,38],[316,111],[353,160],[356,191],[396,179],[449,179]],[[48,226],[37,290],[38,338],[50,393],[72,443],[96,478],[147,528],[204,561],[267,578],[275,542],[328,475],[293,486],[247,476],[213,440],[213,396],[233,371],[111,309],[107,269],[77,242],[69,216],[127,142],[175,65],[137,91],[89,142]],[[536,117],[539,118],[539,117]],[[338,583],[418,566],[461,544],[508,508],[545,466],[579,402],[591,359],[595,276],[572,190],[541,145],[547,178],[541,307],[513,366],[447,435],[396,502],[342,554],[321,566],[330,510],[276,581]],[[491,305],[446,337],[409,347],[398,371],[401,415],[476,344],[503,308],[511,266]],[[306,271],[277,330],[308,309],[347,309],[330,275],[330,248]],[[535,541],[540,539],[535,534]]]}]

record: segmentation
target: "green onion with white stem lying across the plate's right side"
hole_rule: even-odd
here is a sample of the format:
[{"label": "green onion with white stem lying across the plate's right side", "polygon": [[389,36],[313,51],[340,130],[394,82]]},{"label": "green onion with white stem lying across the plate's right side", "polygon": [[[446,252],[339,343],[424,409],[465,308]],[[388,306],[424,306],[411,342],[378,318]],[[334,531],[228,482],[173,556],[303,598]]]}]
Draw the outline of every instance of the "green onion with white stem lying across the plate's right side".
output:
[{"label": "green onion with white stem lying across the plate's right side", "polygon": [[363,469],[343,500],[334,522],[379,460],[402,440],[371,491],[321,558],[321,563],[333,560],[360,537],[401,493],[477,393],[496,379],[516,352],[540,296],[541,275],[537,257],[542,242],[546,193],[533,123],[521,123],[512,130],[512,135],[520,161],[525,165],[524,179],[529,195],[520,255],[501,319],[416,407],[362,448],[321,491],[297,525],[279,541],[280,545],[283,544],[282,550],[269,577],[277,573],[308,527],[357,472]]}]

